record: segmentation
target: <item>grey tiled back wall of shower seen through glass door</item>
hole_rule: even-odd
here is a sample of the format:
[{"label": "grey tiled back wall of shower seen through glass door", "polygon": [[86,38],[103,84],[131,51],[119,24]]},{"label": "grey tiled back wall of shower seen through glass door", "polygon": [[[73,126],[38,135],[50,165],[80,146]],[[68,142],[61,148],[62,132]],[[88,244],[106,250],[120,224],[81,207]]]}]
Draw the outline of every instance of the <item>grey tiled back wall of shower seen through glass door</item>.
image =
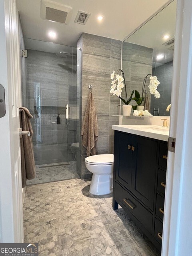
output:
[{"label": "grey tiled back wall of shower seen through glass door", "polygon": [[[71,58],[71,57],[70,57]],[[36,164],[49,164],[71,160],[68,130],[65,124],[65,104],[75,101],[76,91],[73,90],[72,73],[65,68],[65,58],[54,53],[28,50],[27,58],[27,88],[28,108],[34,116],[33,145]],[[73,86],[75,87],[75,86]],[[40,94],[41,117],[37,113],[38,93]],[[57,123],[60,114],[61,124]],[[37,124],[40,118],[41,134],[37,134]],[[74,121],[75,122],[75,121]],[[72,123],[72,127],[76,124]]]}]

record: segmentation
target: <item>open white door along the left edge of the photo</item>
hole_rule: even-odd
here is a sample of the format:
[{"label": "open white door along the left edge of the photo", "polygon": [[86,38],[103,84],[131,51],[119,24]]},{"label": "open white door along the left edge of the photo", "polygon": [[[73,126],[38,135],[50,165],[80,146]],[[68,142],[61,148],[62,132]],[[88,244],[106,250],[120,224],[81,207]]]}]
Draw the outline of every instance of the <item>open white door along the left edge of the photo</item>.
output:
[{"label": "open white door along the left edge of the photo", "polygon": [[0,0],[0,84],[6,103],[6,114],[0,118],[0,242],[22,243],[20,47],[15,0]]}]

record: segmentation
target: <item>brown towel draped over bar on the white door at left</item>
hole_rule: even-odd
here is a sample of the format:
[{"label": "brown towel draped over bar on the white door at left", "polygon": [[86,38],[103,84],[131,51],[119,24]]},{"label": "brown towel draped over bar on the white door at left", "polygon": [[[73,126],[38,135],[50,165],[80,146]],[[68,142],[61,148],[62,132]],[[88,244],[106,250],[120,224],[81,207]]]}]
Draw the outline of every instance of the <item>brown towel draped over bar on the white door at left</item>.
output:
[{"label": "brown towel draped over bar on the white door at left", "polygon": [[[31,136],[33,135],[33,129],[30,122],[30,118],[32,117],[33,116],[27,108],[20,108],[20,127],[23,132],[29,131]],[[35,178],[35,160],[31,136],[22,135],[22,138],[20,139],[22,188],[26,186],[26,179],[32,180]]]}]

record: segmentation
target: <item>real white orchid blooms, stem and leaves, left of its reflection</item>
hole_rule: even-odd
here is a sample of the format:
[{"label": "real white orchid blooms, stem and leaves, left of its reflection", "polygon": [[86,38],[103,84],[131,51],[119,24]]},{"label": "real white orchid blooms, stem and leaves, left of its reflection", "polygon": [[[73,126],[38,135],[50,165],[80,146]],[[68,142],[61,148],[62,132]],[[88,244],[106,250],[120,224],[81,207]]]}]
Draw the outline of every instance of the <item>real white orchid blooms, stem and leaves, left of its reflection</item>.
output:
[{"label": "real white orchid blooms, stem and leaves, left of its reflection", "polygon": [[[122,73],[122,76],[118,74],[118,72]],[[111,74],[111,88],[110,88],[110,94],[116,95],[118,98],[120,98],[122,100],[122,102],[125,105],[128,105],[131,100],[132,100],[132,96],[134,94],[134,90],[132,91],[130,98],[127,98],[127,90],[126,90],[126,83],[125,83],[125,76],[124,76],[124,72],[121,69],[117,70],[117,74],[115,74],[115,71],[113,70],[112,74]],[[121,93],[122,93],[122,88],[125,87],[125,96],[124,98],[120,97]]]}]

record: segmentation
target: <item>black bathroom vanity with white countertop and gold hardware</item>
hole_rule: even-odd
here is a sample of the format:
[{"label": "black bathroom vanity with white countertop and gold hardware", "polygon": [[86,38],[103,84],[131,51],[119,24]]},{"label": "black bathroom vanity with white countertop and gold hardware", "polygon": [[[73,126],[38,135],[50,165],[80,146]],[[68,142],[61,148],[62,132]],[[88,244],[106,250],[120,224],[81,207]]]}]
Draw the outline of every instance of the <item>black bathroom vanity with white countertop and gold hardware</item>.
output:
[{"label": "black bathroom vanity with white countertop and gold hardware", "polygon": [[113,126],[113,208],[118,204],[161,250],[168,128]]}]

